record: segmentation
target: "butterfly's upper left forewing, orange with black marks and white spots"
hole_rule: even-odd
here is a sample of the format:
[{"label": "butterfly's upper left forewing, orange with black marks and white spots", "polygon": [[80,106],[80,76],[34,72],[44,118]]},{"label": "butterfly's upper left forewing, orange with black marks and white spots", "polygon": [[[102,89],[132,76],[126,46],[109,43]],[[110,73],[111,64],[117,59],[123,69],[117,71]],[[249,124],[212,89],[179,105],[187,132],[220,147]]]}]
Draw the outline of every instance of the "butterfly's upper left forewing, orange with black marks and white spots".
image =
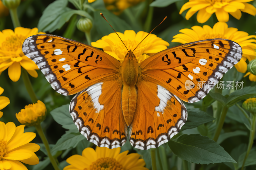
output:
[{"label": "butterfly's upper left forewing, orange with black marks and white spots", "polygon": [[62,95],[108,79],[120,67],[118,60],[97,48],[55,35],[33,35],[24,41],[22,50]]}]

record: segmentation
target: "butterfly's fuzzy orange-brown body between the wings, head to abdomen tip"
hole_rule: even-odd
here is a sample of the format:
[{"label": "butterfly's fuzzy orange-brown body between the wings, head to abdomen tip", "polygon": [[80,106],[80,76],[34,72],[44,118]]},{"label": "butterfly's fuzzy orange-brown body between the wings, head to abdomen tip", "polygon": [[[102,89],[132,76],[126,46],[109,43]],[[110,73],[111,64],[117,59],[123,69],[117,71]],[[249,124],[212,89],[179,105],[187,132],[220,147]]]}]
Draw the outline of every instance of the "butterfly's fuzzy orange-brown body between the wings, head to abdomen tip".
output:
[{"label": "butterfly's fuzzy orange-brown body between the wings, head to abdomen tip", "polygon": [[131,50],[125,55],[120,72],[124,84],[122,91],[122,109],[124,120],[127,126],[129,126],[132,122],[136,107],[137,92],[135,84],[139,72],[137,59]]}]

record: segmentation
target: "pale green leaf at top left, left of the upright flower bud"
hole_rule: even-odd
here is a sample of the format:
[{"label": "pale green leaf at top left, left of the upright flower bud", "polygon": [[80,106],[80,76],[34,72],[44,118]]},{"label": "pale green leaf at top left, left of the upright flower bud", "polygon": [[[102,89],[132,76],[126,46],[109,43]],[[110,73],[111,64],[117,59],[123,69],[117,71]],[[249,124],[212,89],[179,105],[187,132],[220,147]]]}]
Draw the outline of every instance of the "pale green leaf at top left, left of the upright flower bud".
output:
[{"label": "pale green leaf at top left, left of the upright flower bud", "polygon": [[67,4],[68,0],[57,0],[49,4],[39,19],[37,25],[38,30],[44,32],[51,30],[51,26],[55,26],[56,22],[59,20],[60,15],[66,11],[65,8]]}]

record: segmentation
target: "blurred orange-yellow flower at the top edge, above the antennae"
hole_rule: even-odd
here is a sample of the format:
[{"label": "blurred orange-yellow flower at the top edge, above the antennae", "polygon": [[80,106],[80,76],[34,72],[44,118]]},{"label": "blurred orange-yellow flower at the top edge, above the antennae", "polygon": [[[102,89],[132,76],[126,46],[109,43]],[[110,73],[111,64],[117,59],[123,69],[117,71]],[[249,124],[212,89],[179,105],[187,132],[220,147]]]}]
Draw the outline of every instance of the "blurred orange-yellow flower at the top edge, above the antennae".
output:
[{"label": "blurred orange-yellow flower at the top edge, above the antennae", "polygon": [[137,5],[145,0],[103,0],[108,11],[120,15],[126,8]]}]

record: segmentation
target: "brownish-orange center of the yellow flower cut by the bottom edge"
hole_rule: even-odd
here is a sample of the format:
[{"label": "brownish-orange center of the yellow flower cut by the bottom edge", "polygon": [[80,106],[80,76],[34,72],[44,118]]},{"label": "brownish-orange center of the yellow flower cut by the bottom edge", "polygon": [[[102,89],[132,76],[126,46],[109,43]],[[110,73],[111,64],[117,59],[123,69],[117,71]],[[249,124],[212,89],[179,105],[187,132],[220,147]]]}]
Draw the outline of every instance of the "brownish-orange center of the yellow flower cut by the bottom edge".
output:
[{"label": "brownish-orange center of the yellow flower cut by the bottom edge", "polygon": [[[86,170],[86,169],[84,169]],[[90,165],[90,170],[124,170],[114,158],[100,158]]]}]

